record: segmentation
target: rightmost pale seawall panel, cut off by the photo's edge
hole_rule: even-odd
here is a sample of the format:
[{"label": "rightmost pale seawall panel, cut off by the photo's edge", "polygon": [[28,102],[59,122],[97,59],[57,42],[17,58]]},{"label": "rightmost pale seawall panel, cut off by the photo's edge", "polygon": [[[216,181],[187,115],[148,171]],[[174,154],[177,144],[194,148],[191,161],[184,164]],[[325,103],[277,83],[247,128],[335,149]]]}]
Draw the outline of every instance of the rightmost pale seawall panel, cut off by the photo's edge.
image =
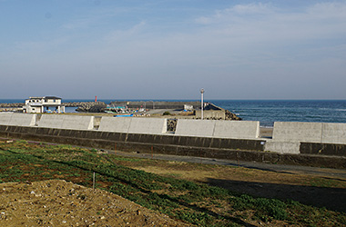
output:
[{"label": "rightmost pale seawall panel, cut off by the photo's edge", "polygon": [[322,143],[346,143],[346,123],[323,123]]}]

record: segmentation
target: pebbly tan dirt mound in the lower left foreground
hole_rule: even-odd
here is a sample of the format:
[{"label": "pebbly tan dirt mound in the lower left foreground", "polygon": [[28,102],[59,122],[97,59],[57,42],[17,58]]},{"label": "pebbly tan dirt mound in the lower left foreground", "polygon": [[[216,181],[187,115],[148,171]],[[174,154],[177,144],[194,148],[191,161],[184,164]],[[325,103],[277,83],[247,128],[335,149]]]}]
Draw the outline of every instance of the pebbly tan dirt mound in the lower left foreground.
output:
[{"label": "pebbly tan dirt mound in the lower left foreground", "polygon": [[63,180],[0,184],[0,226],[189,226]]}]

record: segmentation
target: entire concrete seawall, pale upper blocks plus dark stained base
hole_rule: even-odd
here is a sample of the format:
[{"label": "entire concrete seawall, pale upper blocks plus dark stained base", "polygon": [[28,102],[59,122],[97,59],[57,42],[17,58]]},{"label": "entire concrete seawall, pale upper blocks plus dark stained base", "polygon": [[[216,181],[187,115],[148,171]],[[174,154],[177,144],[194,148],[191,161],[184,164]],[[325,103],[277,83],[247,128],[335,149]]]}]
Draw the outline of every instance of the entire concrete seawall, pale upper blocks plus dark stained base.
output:
[{"label": "entire concrete seawall, pale upper blocks plus dark stained base", "polygon": [[[260,138],[259,122],[0,114],[0,136],[128,152],[346,168],[345,123],[275,123]],[[99,125],[95,125],[99,123]]]}]

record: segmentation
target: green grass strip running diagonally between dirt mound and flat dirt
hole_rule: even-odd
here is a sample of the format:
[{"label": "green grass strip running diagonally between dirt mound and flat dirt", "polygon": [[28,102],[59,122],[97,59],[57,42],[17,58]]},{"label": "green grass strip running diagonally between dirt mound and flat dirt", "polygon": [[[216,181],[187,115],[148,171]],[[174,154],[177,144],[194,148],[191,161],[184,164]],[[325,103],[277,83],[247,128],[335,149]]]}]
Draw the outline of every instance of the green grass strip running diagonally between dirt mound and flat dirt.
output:
[{"label": "green grass strip running diagonally between dirt mound and flat dirt", "polygon": [[255,198],[204,183],[135,170],[119,163],[140,165],[155,161],[97,153],[95,149],[25,141],[0,142],[0,154],[1,183],[64,179],[92,187],[95,172],[97,187],[198,226],[242,226],[254,221],[301,226],[346,223],[342,212],[300,202]]}]

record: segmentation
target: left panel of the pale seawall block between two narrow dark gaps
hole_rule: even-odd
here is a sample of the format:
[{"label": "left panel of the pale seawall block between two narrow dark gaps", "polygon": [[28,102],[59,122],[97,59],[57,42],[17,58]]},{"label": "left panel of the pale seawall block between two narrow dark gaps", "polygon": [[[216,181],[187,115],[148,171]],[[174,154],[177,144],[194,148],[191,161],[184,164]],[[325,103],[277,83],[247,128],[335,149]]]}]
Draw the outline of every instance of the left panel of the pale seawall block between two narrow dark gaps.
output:
[{"label": "left panel of the pale seawall block between two narrow dark gaps", "polygon": [[130,117],[102,117],[99,131],[127,133],[132,118]]}]

